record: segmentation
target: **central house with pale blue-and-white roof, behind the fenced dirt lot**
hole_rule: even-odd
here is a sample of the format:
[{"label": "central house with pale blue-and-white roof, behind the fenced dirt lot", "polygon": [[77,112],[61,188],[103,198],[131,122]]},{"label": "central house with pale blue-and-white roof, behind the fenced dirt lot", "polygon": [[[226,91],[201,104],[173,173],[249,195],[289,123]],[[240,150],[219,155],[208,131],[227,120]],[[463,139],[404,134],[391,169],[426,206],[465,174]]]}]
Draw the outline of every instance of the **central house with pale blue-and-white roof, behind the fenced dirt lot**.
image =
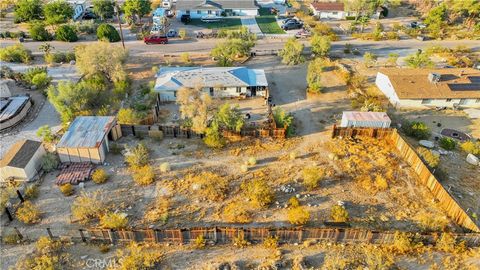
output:
[{"label": "central house with pale blue-and-white roof, behind the fenced dirt lot", "polygon": [[201,88],[213,97],[267,96],[263,69],[245,67],[165,67],[156,75],[154,90],[163,101],[176,100],[182,87]]}]

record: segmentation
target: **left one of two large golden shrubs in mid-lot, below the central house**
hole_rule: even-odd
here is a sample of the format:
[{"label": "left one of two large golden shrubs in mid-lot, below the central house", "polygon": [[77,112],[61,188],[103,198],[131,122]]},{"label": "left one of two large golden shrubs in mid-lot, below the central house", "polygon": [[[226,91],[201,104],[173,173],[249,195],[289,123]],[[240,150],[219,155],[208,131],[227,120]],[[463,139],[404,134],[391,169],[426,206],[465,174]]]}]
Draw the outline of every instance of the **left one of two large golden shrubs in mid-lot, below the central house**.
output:
[{"label": "left one of two large golden shrubs in mid-lot, below the central house", "polygon": [[202,172],[195,176],[189,175],[188,177],[198,187],[195,192],[201,198],[210,201],[222,201],[228,195],[229,184],[225,177],[212,172]]}]

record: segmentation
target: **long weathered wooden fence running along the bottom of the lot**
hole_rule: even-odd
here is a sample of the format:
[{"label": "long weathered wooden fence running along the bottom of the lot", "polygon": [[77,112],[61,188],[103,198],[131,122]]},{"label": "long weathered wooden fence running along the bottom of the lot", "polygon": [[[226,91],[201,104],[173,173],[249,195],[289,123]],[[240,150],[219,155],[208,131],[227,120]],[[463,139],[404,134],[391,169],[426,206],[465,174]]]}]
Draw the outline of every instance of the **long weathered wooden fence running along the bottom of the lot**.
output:
[{"label": "long weathered wooden fence running along the bottom of the lot", "polygon": [[[48,230],[48,234],[54,237]],[[243,238],[251,243],[261,243],[268,237],[276,237],[279,243],[302,243],[303,241],[326,241],[334,243],[371,243],[392,244],[395,232],[380,232],[353,228],[242,228],[242,227],[201,227],[183,229],[135,229],[109,230],[87,229],[79,230],[83,242],[100,241],[113,244],[122,242],[154,242],[154,243],[192,243],[199,236],[203,236],[212,244],[230,244],[235,238]],[[416,237],[426,244],[434,244],[440,234],[417,234]],[[468,246],[480,246],[480,234],[454,234],[457,240],[465,241]]]}]

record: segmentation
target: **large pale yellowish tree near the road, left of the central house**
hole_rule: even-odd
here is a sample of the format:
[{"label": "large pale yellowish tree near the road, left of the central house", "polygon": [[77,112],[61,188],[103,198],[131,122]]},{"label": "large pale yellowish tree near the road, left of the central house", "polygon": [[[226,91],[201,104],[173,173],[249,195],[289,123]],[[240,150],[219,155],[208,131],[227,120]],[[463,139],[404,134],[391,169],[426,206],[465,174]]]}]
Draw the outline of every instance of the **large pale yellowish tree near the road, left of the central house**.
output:
[{"label": "large pale yellowish tree near the road, left of the central house", "polygon": [[77,69],[87,77],[101,73],[114,83],[127,78],[123,69],[127,53],[122,47],[108,42],[81,45],[75,48],[75,58]]}]

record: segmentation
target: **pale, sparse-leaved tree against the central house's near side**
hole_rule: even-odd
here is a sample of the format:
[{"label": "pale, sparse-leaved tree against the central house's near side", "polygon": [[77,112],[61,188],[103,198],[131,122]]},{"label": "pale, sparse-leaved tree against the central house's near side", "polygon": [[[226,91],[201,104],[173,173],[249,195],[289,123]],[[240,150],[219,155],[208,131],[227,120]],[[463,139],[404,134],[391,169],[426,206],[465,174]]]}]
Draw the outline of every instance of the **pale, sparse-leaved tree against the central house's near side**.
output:
[{"label": "pale, sparse-leaved tree against the central house's near side", "polygon": [[202,92],[201,87],[180,88],[177,92],[177,104],[180,105],[180,117],[190,124],[193,131],[205,132],[211,111],[212,98]]}]

